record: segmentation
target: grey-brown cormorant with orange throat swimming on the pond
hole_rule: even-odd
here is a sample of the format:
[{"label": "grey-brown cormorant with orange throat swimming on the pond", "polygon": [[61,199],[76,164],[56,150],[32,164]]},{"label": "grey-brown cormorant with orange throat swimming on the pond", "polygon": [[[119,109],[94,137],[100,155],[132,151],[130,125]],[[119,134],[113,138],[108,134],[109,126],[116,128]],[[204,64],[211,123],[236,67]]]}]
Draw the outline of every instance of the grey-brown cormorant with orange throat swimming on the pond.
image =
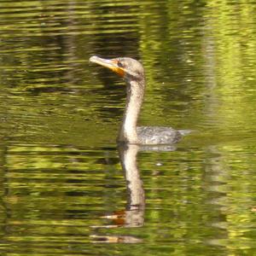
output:
[{"label": "grey-brown cormorant with orange throat swimming on the pond", "polygon": [[137,119],[143,104],[145,75],[143,65],[130,57],[103,59],[96,55],[90,62],[107,67],[125,79],[125,113],[120,125],[118,143],[139,145],[168,145],[177,143],[183,136],[182,130],[164,126],[137,126]]}]

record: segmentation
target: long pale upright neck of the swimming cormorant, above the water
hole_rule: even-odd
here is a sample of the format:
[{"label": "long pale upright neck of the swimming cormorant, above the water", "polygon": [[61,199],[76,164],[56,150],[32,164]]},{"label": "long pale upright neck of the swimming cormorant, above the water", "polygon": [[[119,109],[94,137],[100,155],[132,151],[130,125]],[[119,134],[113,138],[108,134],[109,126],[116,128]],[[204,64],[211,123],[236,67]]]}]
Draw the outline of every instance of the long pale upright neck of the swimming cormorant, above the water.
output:
[{"label": "long pale upright neck of the swimming cormorant, above the water", "polygon": [[123,122],[119,131],[119,142],[139,143],[137,119],[143,104],[144,80],[127,81],[126,104]]}]

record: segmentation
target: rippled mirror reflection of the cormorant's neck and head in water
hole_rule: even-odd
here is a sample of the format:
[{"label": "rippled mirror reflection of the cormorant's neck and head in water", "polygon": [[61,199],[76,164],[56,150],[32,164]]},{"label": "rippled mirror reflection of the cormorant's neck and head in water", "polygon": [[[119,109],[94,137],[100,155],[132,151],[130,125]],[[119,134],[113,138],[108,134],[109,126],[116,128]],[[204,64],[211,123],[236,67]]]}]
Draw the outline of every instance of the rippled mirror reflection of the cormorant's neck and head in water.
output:
[{"label": "rippled mirror reflection of the cormorant's neck and head in water", "polygon": [[[139,146],[136,144],[120,144],[118,147],[119,159],[125,175],[127,188],[127,205],[125,210],[113,212],[102,218],[110,218],[113,224],[105,226],[94,226],[94,228],[134,228],[144,224],[145,193],[143,181],[137,167],[137,152]],[[93,242],[140,242],[141,239],[133,236],[90,236]]]}]

